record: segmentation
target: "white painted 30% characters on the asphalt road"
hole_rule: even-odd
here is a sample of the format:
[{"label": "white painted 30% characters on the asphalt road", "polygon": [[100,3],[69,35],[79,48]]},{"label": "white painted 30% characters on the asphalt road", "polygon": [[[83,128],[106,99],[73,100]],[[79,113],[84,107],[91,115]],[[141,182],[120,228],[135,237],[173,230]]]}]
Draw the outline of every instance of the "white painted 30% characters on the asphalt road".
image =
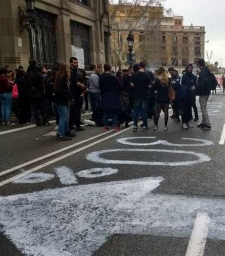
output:
[{"label": "white painted 30% characters on the asphalt road", "polygon": [[[136,139],[145,139],[145,142],[135,143]],[[152,139],[156,139],[156,137],[128,137],[128,138],[121,138],[118,139],[117,142],[130,145],[135,147],[149,147],[155,145],[164,145],[167,147],[204,147],[210,146],[214,143],[211,141],[207,141],[205,139],[195,139],[195,138],[182,138],[183,141],[190,142],[186,144],[175,144],[170,143],[168,141],[153,141]],[[147,142],[146,142],[147,141]],[[149,142],[148,142],[149,141]],[[102,157],[103,154],[109,153],[163,153],[163,154],[178,154],[178,155],[190,155],[195,157],[194,160],[189,161],[180,161],[180,162],[164,162],[164,161],[135,161],[135,160],[112,160]],[[111,155],[111,154],[110,154]],[[203,163],[210,161],[210,157],[203,153],[196,153],[195,151],[185,151],[185,150],[168,150],[168,149],[107,149],[101,151],[95,151],[86,156],[86,159],[96,163],[103,163],[103,164],[134,164],[134,165],[145,165],[145,166],[191,166],[197,163]],[[55,174],[57,175],[58,179],[60,180],[61,184],[64,185],[72,185],[78,184],[78,180],[76,177],[80,178],[98,178],[102,176],[108,176],[112,174],[116,174],[118,169],[115,168],[92,168],[87,170],[82,170],[76,174],[74,174],[73,170],[68,167],[58,167],[54,169]],[[46,182],[55,178],[54,174],[49,173],[31,173],[27,176],[24,176],[21,179],[15,180],[14,183],[16,184],[34,184],[40,182]]]}]

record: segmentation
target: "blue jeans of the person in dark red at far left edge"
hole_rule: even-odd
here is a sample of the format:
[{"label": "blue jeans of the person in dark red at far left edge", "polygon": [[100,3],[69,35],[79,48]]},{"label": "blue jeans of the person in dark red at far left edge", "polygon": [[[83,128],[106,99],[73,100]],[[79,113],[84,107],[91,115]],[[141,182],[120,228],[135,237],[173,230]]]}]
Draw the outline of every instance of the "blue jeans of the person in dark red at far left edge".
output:
[{"label": "blue jeans of the person in dark red at far left edge", "polygon": [[0,93],[2,120],[11,120],[12,94]]}]

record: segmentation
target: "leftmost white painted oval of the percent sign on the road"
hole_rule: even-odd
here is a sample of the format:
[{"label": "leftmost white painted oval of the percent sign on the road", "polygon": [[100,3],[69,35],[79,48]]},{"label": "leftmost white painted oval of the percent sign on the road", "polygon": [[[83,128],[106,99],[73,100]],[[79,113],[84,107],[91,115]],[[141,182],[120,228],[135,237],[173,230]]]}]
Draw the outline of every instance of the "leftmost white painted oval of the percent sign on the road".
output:
[{"label": "leftmost white painted oval of the percent sign on the road", "polygon": [[22,177],[18,180],[14,180],[15,184],[33,184],[33,183],[41,183],[52,180],[55,176],[50,173],[30,173],[29,175]]}]

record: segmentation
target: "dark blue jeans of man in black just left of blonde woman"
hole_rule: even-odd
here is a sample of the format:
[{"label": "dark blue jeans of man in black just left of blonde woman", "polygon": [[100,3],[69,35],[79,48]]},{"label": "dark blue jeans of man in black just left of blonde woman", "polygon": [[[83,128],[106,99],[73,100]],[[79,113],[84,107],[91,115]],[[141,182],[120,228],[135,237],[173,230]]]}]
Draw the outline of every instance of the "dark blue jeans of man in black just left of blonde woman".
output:
[{"label": "dark blue jeans of man in black just left of blonde woman", "polygon": [[134,100],[134,126],[137,126],[139,114],[142,114],[143,126],[148,126],[148,100]]}]

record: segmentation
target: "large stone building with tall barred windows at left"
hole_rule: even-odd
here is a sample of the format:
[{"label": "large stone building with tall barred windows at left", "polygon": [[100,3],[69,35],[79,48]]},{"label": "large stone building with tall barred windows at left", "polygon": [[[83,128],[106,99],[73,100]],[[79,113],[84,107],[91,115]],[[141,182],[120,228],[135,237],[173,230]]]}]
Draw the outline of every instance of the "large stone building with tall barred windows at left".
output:
[{"label": "large stone building with tall barred windows at left", "polygon": [[68,63],[71,45],[85,68],[110,62],[108,0],[33,2],[37,20],[30,26],[24,16],[26,0],[0,1],[0,66],[26,68],[29,59],[48,68],[57,59]]}]

